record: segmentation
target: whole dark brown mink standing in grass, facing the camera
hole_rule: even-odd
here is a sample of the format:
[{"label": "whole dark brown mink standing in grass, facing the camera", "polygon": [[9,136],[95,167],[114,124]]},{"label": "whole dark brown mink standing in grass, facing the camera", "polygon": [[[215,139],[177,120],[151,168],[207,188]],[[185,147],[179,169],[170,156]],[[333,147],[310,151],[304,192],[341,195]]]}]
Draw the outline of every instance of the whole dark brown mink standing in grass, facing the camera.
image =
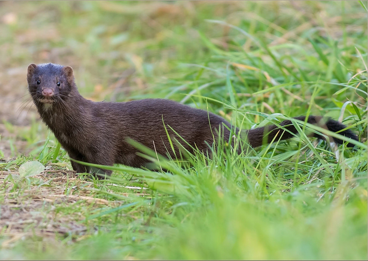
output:
[{"label": "whole dark brown mink standing in grass, facing the camera", "polygon": [[[74,81],[70,66],[57,64],[30,64],[27,73],[28,90],[32,96],[41,119],[52,130],[61,146],[71,159],[113,165],[121,163],[132,167],[146,166],[149,161],[137,155],[138,149],[127,142],[130,138],[153,149],[158,154],[175,158],[167,138],[181,141],[171,129],[186,142],[181,145],[190,152],[197,147],[199,151],[211,153],[209,145],[217,141],[219,133],[224,141],[230,142],[232,134],[239,129],[213,113],[195,109],[166,99],[144,99],[130,102],[93,102],[83,98]],[[305,116],[295,119],[305,120]],[[346,126],[321,116],[309,116],[308,123],[318,124],[337,132]],[[166,126],[166,130],[164,127]],[[297,134],[290,120],[280,123],[287,131],[275,125],[242,130],[251,147],[258,147],[275,140],[284,140]],[[232,131],[230,131],[232,130]],[[167,131],[167,133],[166,133]],[[353,140],[358,137],[351,130],[341,131]],[[314,137],[323,137],[313,134]],[[333,138],[337,144],[343,141]],[[234,142],[232,143],[234,144]],[[179,147],[174,144],[176,155]],[[348,143],[347,146],[354,145]],[[238,153],[241,149],[237,148]],[[71,161],[78,173],[90,172],[91,168]],[[94,173],[111,174],[110,170],[93,170]],[[98,175],[100,176],[100,175]]]}]

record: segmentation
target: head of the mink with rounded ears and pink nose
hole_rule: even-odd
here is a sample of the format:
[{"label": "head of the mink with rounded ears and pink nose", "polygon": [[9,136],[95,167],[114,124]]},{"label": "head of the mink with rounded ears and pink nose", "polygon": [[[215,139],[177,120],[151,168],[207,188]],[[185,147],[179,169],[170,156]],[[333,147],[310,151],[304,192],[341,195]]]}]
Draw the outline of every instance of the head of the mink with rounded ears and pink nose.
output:
[{"label": "head of the mink with rounded ears and pink nose", "polygon": [[35,102],[52,104],[66,100],[76,90],[73,69],[58,64],[29,64],[28,91]]}]

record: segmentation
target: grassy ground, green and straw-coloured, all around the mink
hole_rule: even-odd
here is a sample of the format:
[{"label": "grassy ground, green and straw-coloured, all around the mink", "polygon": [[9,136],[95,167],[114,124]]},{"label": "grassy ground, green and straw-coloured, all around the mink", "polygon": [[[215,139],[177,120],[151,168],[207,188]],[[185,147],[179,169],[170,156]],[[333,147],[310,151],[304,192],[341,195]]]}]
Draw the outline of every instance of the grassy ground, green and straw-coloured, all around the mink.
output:
[{"label": "grassy ground, green and straw-coloured, all around the mink", "polygon": [[[302,123],[246,155],[158,162],[142,148],[169,171],[98,181],[70,171],[34,108],[24,124],[8,109],[1,259],[367,259],[367,1],[0,6],[0,91],[14,97],[29,63],[54,62],[93,100],[173,99],[243,129],[323,115],[360,136],[338,158]],[[46,169],[22,175],[32,161]]]}]

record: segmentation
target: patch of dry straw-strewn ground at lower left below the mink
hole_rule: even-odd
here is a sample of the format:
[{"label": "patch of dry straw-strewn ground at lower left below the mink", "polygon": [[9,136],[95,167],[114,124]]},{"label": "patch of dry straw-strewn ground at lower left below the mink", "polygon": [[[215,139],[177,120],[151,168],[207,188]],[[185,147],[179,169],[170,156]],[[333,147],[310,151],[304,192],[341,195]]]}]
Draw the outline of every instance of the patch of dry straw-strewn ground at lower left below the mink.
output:
[{"label": "patch of dry straw-strewn ground at lower left below the mink", "polygon": [[[85,213],[63,213],[60,209],[85,205],[88,206],[88,212],[94,212],[102,207],[124,204],[122,200],[98,198],[99,194],[93,192],[94,182],[78,177],[74,171],[53,168],[49,166],[48,170],[33,176],[31,182],[19,180],[17,171],[0,173],[1,188],[6,188],[1,194],[0,234],[6,238],[1,247],[11,248],[20,239],[35,236],[53,240],[71,236],[74,240],[81,240],[81,236],[87,232],[86,223],[83,222]],[[36,180],[42,180],[41,184],[37,184]],[[132,192],[120,195],[149,195],[140,193],[140,187],[128,186],[127,189]]]}]

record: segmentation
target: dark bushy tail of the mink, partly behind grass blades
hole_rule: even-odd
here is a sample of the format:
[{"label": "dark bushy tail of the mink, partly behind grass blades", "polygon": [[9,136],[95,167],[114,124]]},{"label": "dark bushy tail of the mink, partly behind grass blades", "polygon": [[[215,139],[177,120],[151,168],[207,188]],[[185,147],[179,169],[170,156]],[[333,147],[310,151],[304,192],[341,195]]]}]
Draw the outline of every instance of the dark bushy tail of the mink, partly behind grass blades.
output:
[{"label": "dark bushy tail of the mink, partly behind grass blades", "polygon": [[[294,119],[305,121],[305,116],[295,117]],[[333,132],[338,132],[346,128],[346,126],[340,123],[339,121],[333,120],[331,118],[324,119],[321,116],[309,116],[307,122],[310,124],[314,124],[316,126],[326,128]],[[294,134],[298,133],[297,129],[295,128],[293,123],[291,123],[290,120],[284,120],[282,123],[280,123],[280,126],[283,126],[288,131],[280,129],[276,125],[255,128],[252,130],[246,130],[245,135],[247,136],[248,143],[252,147],[258,147],[258,146],[261,146],[263,143],[272,142],[272,140],[275,137],[276,137],[275,141],[286,140],[286,139],[292,138]],[[355,140],[355,141],[359,140],[358,136],[355,135],[353,131],[351,131],[350,129],[340,131],[339,134],[344,135],[347,138],[351,138],[352,140]],[[316,133],[311,133],[310,136],[325,140],[325,138],[322,135],[319,135]],[[343,143],[343,140],[340,140],[338,138],[332,138],[332,139],[337,144]],[[265,141],[263,142],[263,140]],[[348,143],[347,146],[354,147],[354,144]]]}]

